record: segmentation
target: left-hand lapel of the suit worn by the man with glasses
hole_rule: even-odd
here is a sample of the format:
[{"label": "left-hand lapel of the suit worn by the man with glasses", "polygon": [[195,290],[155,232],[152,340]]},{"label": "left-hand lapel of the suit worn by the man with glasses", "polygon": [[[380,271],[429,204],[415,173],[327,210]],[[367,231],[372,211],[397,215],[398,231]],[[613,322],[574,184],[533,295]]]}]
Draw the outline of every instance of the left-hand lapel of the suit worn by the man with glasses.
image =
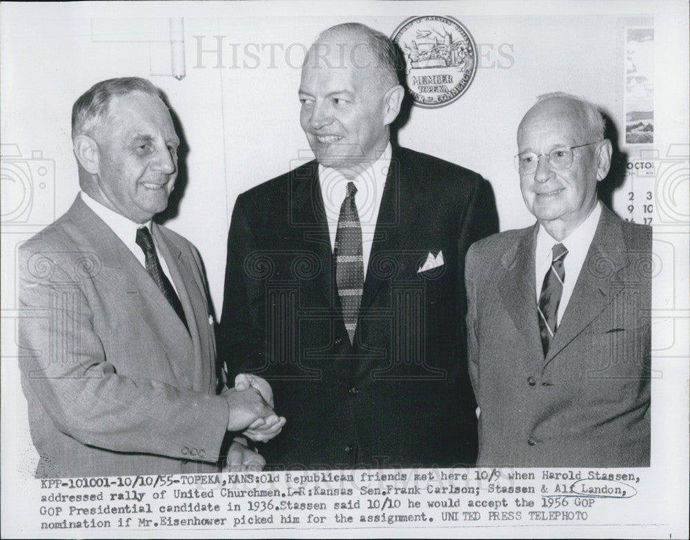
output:
[{"label": "left-hand lapel of the suit worn by the man with glasses", "polygon": [[498,291],[517,333],[522,336],[529,358],[544,358],[537,319],[534,250],[538,225],[524,229],[520,240],[501,258],[504,274]]}]

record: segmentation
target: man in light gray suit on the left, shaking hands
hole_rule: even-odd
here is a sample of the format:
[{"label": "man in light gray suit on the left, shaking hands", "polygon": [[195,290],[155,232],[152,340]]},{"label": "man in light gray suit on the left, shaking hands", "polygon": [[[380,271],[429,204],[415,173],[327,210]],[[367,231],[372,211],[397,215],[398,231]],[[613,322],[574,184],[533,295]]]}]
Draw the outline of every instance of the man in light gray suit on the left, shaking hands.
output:
[{"label": "man in light gray suit on the left, shaking hands", "polygon": [[242,376],[216,395],[199,254],[152,222],[168,204],[179,145],[159,90],[135,77],[101,81],[75,103],[72,139],[82,191],[19,250],[36,475],[210,472],[225,452],[239,467],[262,465],[230,441],[280,431],[270,387]]}]

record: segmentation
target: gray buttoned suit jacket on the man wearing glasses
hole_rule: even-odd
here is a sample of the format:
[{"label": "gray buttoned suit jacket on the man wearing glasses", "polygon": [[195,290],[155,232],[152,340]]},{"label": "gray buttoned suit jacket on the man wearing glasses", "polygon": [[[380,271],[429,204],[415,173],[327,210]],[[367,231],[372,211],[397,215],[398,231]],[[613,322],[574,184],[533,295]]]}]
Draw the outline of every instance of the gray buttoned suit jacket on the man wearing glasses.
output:
[{"label": "gray buttoned suit jacket on the man wearing glasses", "polygon": [[536,232],[535,225],[499,233],[467,254],[477,465],[648,466],[651,227],[602,208],[546,358]]}]

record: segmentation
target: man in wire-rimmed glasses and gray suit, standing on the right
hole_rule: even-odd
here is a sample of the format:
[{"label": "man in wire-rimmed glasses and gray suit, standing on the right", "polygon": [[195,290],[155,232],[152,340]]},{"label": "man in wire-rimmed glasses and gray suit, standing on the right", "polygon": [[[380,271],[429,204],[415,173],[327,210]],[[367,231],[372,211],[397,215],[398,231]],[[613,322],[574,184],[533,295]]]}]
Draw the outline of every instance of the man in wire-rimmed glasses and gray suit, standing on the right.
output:
[{"label": "man in wire-rimmed glasses and gray suit, standing on the right", "polygon": [[477,465],[649,465],[651,227],[599,202],[611,142],[595,106],[540,97],[515,157],[537,223],[467,254]]}]

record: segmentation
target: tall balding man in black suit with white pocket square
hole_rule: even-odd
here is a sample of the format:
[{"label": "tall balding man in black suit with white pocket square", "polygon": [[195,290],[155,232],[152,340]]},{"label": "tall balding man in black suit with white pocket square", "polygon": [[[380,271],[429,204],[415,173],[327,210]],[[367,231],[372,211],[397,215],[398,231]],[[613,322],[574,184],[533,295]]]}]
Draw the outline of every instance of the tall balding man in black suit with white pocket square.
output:
[{"label": "tall balding man in black suit with white pocket square", "polygon": [[391,146],[401,67],[380,32],[323,32],[299,88],[316,160],[235,204],[221,340],[288,418],[268,467],[475,461],[462,274],[495,206],[476,173]]}]

